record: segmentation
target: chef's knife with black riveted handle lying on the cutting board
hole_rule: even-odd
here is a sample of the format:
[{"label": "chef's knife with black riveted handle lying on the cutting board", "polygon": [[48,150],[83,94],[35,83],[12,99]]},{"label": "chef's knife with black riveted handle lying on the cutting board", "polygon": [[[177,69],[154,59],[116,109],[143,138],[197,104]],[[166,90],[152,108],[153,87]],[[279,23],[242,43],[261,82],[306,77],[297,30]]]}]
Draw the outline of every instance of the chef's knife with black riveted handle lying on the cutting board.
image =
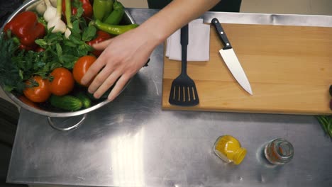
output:
[{"label": "chef's knife with black riveted handle lying on the cutting board", "polygon": [[247,91],[250,95],[253,95],[248,78],[245,75],[240,62],[238,61],[238,57],[236,57],[231,42],[229,42],[225,31],[221,27],[221,24],[217,18],[213,18],[211,22],[216,27],[218,36],[224,45],[224,47],[219,50],[221,57],[223,57],[223,61],[226,63],[229,71],[231,71],[233,74],[233,77],[236,79],[236,81],[238,81],[238,84],[240,84],[240,86],[242,86],[242,88],[245,89],[245,91]]}]

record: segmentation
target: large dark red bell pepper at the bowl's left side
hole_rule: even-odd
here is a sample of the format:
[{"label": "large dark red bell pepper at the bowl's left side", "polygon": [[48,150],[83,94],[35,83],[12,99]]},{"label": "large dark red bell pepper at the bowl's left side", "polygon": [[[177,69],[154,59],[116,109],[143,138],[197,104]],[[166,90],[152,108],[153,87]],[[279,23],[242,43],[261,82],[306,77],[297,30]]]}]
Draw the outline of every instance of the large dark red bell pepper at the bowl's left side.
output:
[{"label": "large dark red bell pepper at the bowl's left side", "polygon": [[38,46],[35,40],[45,35],[45,26],[38,23],[38,16],[32,11],[23,11],[13,17],[4,26],[5,33],[9,30],[20,41],[21,50],[34,50]]}]

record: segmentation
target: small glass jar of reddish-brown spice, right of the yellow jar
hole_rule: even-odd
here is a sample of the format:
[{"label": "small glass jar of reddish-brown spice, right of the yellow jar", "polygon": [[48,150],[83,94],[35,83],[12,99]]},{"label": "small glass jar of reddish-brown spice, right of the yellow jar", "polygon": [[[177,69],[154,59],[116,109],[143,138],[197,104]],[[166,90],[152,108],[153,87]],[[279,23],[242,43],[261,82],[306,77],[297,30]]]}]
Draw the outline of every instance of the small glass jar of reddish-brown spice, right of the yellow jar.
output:
[{"label": "small glass jar of reddish-brown spice, right of the yellow jar", "polygon": [[293,145],[282,138],[271,140],[265,145],[265,158],[275,165],[282,165],[290,162],[294,156]]}]

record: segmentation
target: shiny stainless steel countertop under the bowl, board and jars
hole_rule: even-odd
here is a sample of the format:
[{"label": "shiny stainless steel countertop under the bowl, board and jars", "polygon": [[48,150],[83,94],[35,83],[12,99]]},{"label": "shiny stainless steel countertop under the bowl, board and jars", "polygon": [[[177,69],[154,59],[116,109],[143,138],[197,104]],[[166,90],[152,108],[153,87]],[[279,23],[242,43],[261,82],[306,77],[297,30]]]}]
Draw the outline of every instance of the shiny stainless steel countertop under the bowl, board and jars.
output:
[{"label": "shiny stainless steel countertop under the bowl, board and jars", "polygon": [[[157,11],[129,9],[142,23]],[[205,22],[332,27],[332,16],[205,13]],[[314,116],[162,111],[162,51],[113,103],[60,132],[21,110],[7,182],[74,186],[332,186],[332,142]],[[212,147],[233,135],[248,153],[225,164]],[[270,166],[262,146],[275,137],[294,145],[294,159]]]}]

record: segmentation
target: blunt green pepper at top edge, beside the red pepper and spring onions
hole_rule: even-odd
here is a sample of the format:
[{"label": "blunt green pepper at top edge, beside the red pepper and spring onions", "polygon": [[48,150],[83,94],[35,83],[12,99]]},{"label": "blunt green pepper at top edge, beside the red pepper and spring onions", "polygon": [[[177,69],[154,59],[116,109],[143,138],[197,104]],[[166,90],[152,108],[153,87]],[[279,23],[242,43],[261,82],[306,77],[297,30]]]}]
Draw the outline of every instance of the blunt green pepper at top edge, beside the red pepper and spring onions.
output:
[{"label": "blunt green pepper at top edge, beside the red pepper and spring onions", "polygon": [[103,20],[113,11],[113,0],[94,0],[94,18]]}]

